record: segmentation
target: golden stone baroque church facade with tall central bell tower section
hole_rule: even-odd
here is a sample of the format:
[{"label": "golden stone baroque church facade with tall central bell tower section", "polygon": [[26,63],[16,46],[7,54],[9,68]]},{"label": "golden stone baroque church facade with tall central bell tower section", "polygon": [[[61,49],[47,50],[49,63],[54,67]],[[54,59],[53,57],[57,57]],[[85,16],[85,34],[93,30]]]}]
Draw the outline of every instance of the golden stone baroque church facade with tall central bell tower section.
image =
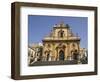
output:
[{"label": "golden stone baroque church facade with tall central bell tower section", "polygon": [[80,37],[73,34],[70,26],[64,23],[54,25],[42,42],[43,61],[70,60],[80,50]]}]

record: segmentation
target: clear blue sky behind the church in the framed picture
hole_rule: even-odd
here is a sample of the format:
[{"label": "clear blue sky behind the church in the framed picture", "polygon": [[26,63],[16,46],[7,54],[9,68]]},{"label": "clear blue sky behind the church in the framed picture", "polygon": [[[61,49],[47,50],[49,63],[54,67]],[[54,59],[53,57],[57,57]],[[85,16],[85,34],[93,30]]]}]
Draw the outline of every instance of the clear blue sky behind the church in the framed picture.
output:
[{"label": "clear blue sky behind the church in the framed picture", "polygon": [[28,16],[28,44],[40,43],[42,39],[50,33],[55,24],[63,21],[68,24],[74,34],[80,36],[80,47],[88,47],[88,18],[87,17],[67,17],[67,16]]}]

